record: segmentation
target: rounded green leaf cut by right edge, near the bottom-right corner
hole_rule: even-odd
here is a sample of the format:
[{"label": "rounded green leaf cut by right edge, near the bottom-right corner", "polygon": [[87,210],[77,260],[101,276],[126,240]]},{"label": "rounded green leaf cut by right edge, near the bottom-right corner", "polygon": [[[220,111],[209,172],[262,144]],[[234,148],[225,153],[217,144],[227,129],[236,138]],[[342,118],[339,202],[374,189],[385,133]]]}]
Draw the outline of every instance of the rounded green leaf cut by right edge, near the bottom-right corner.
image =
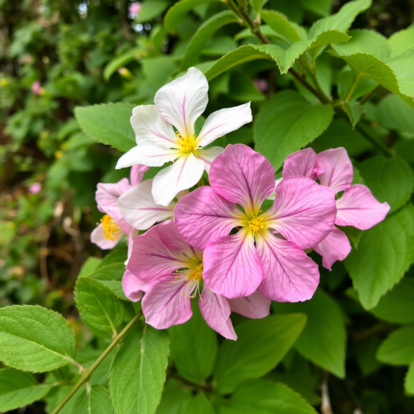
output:
[{"label": "rounded green leaf cut by right edge, near the bottom-right corner", "polygon": [[384,364],[408,365],[414,362],[414,325],[399,328],[389,335],[377,351]]}]

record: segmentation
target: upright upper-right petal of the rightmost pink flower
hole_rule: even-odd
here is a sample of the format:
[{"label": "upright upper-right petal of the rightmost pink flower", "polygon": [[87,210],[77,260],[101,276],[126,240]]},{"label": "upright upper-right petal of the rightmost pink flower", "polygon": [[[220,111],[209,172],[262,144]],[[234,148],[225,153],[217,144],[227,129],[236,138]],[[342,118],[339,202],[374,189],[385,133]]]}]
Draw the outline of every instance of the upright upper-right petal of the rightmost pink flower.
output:
[{"label": "upright upper-right petal of the rightmost pink flower", "polygon": [[351,186],[353,166],[345,148],[333,148],[317,155],[317,164],[324,172],[318,175],[322,186],[331,187],[336,193]]}]

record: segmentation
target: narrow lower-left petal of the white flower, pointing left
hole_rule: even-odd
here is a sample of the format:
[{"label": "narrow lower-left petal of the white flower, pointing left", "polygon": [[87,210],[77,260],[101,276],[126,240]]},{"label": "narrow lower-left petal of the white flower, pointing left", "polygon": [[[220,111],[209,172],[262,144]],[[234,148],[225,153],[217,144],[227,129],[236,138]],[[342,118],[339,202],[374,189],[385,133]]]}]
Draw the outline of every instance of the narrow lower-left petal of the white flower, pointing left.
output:
[{"label": "narrow lower-left petal of the white flower, pointing left", "polygon": [[130,167],[135,164],[144,166],[161,167],[166,162],[174,161],[179,157],[179,150],[164,148],[156,144],[141,144],[131,148],[128,152],[118,159],[117,170],[119,168]]}]

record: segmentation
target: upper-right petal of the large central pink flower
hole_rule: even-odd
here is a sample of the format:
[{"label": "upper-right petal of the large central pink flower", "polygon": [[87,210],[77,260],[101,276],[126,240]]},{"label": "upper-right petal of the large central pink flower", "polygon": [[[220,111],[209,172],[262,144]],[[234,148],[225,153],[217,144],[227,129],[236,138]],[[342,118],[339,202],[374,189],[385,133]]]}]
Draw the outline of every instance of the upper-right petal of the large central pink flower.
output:
[{"label": "upper-right petal of the large central pink flower", "polygon": [[335,191],[307,177],[288,177],[277,185],[275,203],[264,215],[270,228],[300,248],[311,248],[331,233]]}]

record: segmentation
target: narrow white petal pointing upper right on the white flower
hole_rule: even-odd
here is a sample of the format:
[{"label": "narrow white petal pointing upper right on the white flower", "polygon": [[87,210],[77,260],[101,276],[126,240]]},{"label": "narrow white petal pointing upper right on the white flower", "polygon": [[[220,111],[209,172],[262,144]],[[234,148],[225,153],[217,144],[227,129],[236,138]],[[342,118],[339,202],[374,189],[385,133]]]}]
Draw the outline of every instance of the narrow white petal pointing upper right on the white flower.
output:
[{"label": "narrow white petal pointing upper right on the white flower", "polygon": [[197,142],[199,146],[206,146],[215,139],[239,129],[253,119],[250,102],[233,108],[216,110],[208,116],[204,123]]}]

